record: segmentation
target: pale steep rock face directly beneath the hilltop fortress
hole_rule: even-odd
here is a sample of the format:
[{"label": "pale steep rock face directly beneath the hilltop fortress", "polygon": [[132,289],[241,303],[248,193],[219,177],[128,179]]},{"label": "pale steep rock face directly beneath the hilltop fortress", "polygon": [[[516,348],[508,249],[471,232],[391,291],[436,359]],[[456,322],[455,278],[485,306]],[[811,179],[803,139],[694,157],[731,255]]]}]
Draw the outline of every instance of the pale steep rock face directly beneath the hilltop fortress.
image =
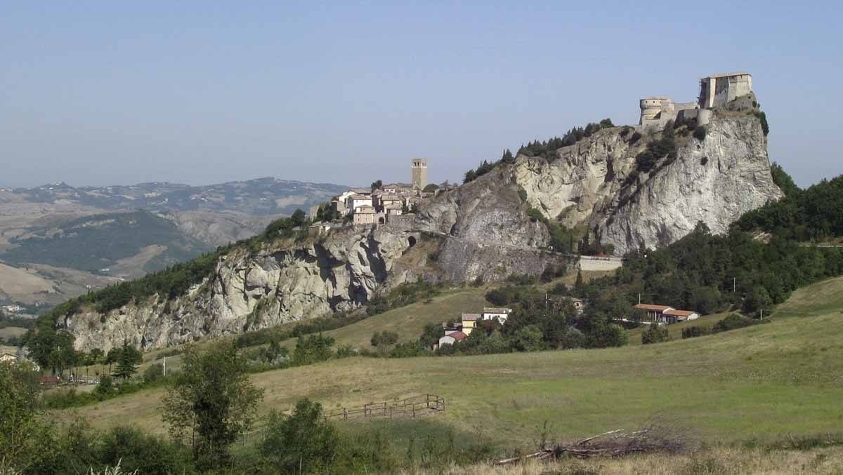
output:
[{"label": "pale steep rock face directly beneath the hilltop fortress", "polygon": [[718,114],[703,141],[679,141],[674,162],[627,179],[636,169],[635,144],[622,129],[600,131],[557,151],[554,161],[518,157],[515,174],[528,200],[567,227],[597,230],[624,254],[641,245],[673,243],[703,221],[722,233],[747,211],[781,198],[773,183],[767,141],[758,119]]}]

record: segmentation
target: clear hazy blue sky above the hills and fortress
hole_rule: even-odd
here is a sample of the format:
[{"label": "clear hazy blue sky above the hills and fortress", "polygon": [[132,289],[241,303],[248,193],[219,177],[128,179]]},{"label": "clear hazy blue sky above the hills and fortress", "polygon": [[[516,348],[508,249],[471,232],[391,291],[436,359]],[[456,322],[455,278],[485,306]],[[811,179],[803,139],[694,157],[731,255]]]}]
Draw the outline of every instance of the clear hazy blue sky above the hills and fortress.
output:
[{"label": "clear hazy blue sky above the hills and fortress", "polygon": [[736,70],[811,184],[843,173],[840,5],[3,2],[0,185],[455,180]]}]

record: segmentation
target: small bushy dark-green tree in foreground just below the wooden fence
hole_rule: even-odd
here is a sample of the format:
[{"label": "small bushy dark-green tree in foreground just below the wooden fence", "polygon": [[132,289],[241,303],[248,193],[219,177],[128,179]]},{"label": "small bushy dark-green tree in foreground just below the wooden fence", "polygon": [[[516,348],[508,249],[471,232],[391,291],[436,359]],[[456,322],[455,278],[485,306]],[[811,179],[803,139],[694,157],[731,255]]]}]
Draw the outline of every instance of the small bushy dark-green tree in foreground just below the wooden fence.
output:
[{"label": "small bushy dark-green tree in foreground just below the wooden fence", "polygon": [[322,406],[303,399],[293,414],[272,411],[260,453],[280,473],[317,473],[336,455],[339,436],[322,417]]}]

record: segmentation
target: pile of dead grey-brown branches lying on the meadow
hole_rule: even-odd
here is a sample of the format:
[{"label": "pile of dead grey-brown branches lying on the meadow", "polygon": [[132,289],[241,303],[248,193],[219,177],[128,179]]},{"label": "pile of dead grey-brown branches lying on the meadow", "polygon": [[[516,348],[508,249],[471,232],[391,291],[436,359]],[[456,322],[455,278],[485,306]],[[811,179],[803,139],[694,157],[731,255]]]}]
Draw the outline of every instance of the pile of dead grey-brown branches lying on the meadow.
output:
[{"label": "pile of dead grey-brown branches lying on the meadow", "polygon": [[620,457],[636,453],[670,452],[685,450],[687,440],[678,430],[665,425],[652,424],[634,432],[609,430],[593,435],[572,444],[555,444],[542,447],[540,451],[526,455],[506,458],[495,465],[521,462],[524,460],[554,460],[565,456],[591,458],[597,456]]}]

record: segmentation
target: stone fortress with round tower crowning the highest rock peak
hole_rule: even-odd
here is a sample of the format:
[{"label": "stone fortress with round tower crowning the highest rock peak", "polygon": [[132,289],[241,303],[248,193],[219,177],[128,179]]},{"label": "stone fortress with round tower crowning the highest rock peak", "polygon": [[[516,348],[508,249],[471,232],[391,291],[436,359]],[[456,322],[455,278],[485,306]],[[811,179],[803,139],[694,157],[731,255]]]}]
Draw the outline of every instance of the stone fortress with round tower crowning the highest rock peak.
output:
[{"label": "stone fortress with round tower crowning the highest rock peak", "polygon": [[676,119],[696,119],[697,124],[706,125],[711,120],[711,109],[749,93],[752,93],[752,75],[749,72],[703,77],[696,102],[674,103],[667,97],[641,99],[641,120],[638,123],[644,128],[662,128]]}]

